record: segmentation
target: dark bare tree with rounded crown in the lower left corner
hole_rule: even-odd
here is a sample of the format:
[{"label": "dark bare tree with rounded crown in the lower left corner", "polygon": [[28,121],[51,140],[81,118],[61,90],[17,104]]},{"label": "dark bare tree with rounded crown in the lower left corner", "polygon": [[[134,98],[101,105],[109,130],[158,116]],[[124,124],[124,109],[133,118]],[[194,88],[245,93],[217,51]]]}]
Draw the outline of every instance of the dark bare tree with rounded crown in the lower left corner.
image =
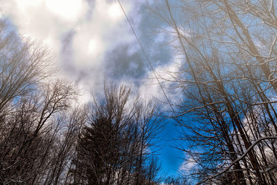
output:
[{"label": "dark bare tree with rounded crown in the lower left corner", "polygon": [[[58,80],[46,85],[41,92],[26,96],[21,96],[1,122],[4,128],[0,134],[3,184],[33,184],[44,170],[53,167],[48,165],[54,162],[51,152],[62,127],[62,115],[58,114],[69,109],[76,91]],[[61,153],[59,155],[62,157]],[[59,159],[59,162],[62,161]]]}]

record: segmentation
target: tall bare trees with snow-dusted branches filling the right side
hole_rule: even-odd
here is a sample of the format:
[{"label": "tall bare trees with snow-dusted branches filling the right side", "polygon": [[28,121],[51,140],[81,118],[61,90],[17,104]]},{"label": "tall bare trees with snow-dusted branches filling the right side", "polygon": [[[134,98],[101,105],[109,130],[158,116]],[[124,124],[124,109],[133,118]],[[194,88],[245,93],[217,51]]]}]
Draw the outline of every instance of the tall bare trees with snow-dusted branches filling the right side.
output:
[{"label": "tall bare trees with snow-dusted branches filling the right side", "polygon": [[184,175],[195,184],[277,184],[276,1],[157,6],[181,58],[164,80],[181,92]]}]

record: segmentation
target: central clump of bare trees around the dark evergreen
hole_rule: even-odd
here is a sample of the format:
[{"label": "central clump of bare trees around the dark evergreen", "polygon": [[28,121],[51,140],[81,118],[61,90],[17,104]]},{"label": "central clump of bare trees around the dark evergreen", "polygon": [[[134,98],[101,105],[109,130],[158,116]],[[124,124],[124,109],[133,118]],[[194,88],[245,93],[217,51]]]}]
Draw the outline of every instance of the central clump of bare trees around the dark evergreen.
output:
[{"label": "central clump of bare trees around the dark evergreen", "polygon": [[128,103],[129,93],[105,85],[105,98],[94,101],[73,159],[73,184],[157,184],[159,166],[148,161],[148,150],[161,121],[153,103]]}]

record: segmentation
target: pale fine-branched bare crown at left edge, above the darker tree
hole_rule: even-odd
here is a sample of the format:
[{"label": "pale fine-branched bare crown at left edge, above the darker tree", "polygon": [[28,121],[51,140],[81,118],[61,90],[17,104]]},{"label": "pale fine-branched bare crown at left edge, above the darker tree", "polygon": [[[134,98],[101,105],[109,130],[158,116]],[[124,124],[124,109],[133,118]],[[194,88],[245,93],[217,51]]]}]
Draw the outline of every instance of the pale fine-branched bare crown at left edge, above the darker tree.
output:
[{"label": "pale fine-branched bare crown at left edge, above the darker tree", "polygon": [[9,26],[6,19],[0,19],[0,112],[51,74],[51,57],[47,49],[19,37]]}]

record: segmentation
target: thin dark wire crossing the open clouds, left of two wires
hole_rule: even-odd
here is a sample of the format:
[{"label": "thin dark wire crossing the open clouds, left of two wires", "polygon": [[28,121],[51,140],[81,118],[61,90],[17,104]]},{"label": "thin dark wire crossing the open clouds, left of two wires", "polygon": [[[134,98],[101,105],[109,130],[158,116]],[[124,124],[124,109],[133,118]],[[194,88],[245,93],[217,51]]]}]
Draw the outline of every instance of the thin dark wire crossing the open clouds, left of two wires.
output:
[{"label": "thin dark wire crossing the open clouds, left of two wires", "polygon": [[148,64],[149,64],[150,68],[152,69],[152,72],[154,73],[154,76],[157,79],[157,81],[159,83],[159,86],[161,87],[161,90],[163,91],[163,94],[166,97],[166,100],[168,101],[168,104],[170,105],[170,108],[172,109],[172,112],[175,114],[175,117],[176,117],[177,114],[176,114],[175,110],[173,109],[172,104],[170,103],[170,100],[169,100],[168,96],[166,95],[166,91],[164,91],[163,86],[161,85],[161,82],[160,82],[160,80],[157,76],[157,73],[156,73],[156,71],[154,70],[154,67],[151,64],[151,62],[148,58],[148,55],[146,54],[145,50],[143,49],[143,45],[141,44],[141,42],[139,40],[139,37],[136,35],[136,32],[134,31],[134,28],[133,28],[131,22],[129,21],[129,18],[127,17],[127,14],[126,14],[125,10],[124,10],[122,4],[120,3],[120,0],[118,0],[118,3],[120,5],[121,10],[123,11],[123,13],[125,15],[125,18],[127,19],[128,23],[129,23],[129,26],[132,29],[132,32],[134,33],[134,36],[136,37],[136,41],[139,43],[139,46],[141,46],[141,51],[143,51],[143,55],[145,56],[146,60],[148,61]]}]

